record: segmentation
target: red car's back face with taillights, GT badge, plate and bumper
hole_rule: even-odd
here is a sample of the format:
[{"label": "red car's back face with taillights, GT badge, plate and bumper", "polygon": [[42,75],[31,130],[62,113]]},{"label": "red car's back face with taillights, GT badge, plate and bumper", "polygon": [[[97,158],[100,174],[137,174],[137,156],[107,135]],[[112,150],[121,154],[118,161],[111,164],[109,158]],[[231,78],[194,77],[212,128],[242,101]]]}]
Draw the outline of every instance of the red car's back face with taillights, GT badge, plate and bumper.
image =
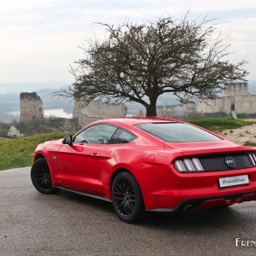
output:
[{"label": "red car's back face with taillights, GT badge, plate and bumper", "polygon": [[179,147],[187,150],[173,157],[170,172],[157,181],[152,209],[189,211],[256,200],[256,148]]}]

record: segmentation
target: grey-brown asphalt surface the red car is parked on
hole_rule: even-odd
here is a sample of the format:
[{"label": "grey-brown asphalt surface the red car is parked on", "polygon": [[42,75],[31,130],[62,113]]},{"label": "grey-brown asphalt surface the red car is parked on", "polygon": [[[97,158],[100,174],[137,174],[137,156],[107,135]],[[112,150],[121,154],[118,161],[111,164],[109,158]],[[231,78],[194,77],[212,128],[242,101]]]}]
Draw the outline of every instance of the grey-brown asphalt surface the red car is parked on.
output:
[{"label": "grey-brown asphalt surface the red car is parked on", "polygon": [[256,255],[256,202],[119,220],[112,205],[61,191],[42,195],[30,168],[0,172],[0,255]]}]

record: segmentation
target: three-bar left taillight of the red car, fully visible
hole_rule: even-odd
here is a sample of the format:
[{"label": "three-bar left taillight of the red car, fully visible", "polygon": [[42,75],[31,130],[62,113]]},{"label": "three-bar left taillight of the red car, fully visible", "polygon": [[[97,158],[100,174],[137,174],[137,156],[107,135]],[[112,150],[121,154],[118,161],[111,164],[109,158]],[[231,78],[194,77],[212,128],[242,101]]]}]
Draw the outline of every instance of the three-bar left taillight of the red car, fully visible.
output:
[{"label": "three-bar left taillight of the red car, fully visible", "polygon": [[174,162],[177,172],[204,172],[204,168],[198,158],[183,158]]}]

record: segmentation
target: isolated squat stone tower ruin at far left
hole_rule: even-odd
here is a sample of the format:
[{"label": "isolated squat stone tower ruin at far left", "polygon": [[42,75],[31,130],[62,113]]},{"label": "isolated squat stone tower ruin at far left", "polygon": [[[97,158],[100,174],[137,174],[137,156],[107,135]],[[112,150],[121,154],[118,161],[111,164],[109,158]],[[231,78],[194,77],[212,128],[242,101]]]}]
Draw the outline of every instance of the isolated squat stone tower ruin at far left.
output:
[{"label": "isolated squat stone tower ruin at far left", "polygon": [[41,98],[36,92],[21,92],[20,93],[20,122],[43,119],[44,108]]}]

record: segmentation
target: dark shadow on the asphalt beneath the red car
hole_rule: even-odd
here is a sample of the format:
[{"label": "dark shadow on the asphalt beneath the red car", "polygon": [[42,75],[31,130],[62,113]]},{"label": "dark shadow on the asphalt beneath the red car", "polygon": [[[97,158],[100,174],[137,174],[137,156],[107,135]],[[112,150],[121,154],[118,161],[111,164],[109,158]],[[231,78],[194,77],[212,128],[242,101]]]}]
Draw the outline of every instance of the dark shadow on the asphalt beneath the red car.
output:
[{"label": "dark shadow on the asphalt beneath the red car", "polygon": [[[94,214],[103,214],[106,218],[113,218],[116,215],[112,204],[108,201],[101,201],[68,191],[61,191],[60,196],[66,201],[75,201],[82,207],[89,207],[90,210],[94,211]],[[201,230],[202,227],[207,226],[227,228],[234,224],[237,227],[243,227],[248,222],[250,214],[242,212],[242,208],[239,205],[239,207],[213,208],[212,210],[197,209],[190,212],[144,212],[137,225],[160,228],[161,230],[187,230],[189,228]],[[116,222],[120,221],[117,216],[115,219]]]}]

